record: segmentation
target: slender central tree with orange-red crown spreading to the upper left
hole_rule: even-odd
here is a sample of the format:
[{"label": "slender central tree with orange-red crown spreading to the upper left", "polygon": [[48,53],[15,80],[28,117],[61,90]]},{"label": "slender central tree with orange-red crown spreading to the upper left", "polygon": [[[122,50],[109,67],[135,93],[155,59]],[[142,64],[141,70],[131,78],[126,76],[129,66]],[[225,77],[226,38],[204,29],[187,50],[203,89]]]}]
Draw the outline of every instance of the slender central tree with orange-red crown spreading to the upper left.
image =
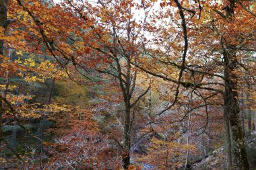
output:
[{"label": "slender central tree with orange-red crown spreading to the upper left", "polygon": [[[53,21],[50,22],[50,16],[45,16],[44,13],[40,13],[41,17],[36,15],[35,11],[39,10],[42,4],[36,2],[29,4],[18,1],[18,5],[26,11],[27,15],[36,25],[33,30],[34,34],[38,34],[39,32],[39,37],[43,39],[49,53],[58,61],[64,59],[63,62],[66,62],[65,64],[59,62],[63,68],[65,67],[65,69],[67,69],[69,66],[67,62],[71,62],[75,69],[83,75],[84,71],[94,69],[95,71],[107,73],[115,77],[115,79],[118,79],[125,105],[123,142],[119,144],[119,146],[123,149],[123,167],[127,169],[130,159],[131,126],[132,120],[134,119],[131,115],[134,116],[135,114],[135,109],[132,110],[132,108],[136,108],[139,99],[148,92],[148,89],[146,89],[146,91],[143,91],[141,95],[137,97],[133,95],[137,71],[131,65],[131,62],[136,62],[136,58],[140,54],[139,46],[141,46],[141,44],[136,41],[139,40],[141,36],[137,37],[135,34],[137,34],[136,29],[141,30],[143,25],[140,26],[135,23],[130,15],[131,7],[136,5],[144,11],[146,11],[146,7],[144,6],[145,4],[141,6],[132,1],[115,2],[115,4],[113,4],[115,8],[108,5],[108,3],[108,1],[100,2],[98,6],[94,7],[90,5],[84,6],[83,4],[76,6],[73,5],[72,1],[67,1],[67,5],[69,5],[69,8],[65,8],[67,12],[63,12],[61,9],[57,12],[63,15],[64,13],[73,13],[73,11],[75,11],[77,15],[79,15],[79,18],[75,17],[75,15],[69,15],[69,19],[72,18],[72,22],[69,22],[71,25],[66,27],[62,25],[60,31],[56,28],[56,25],[59,26],[59,24],[63,23],[59,23],[59,21],[57,21],[57,24]],[[123,8],[118,7],[119,5]],[[148,8],[150,3],[146,5],[148,5]],[[55,12],[56,9],[49,10]],[[85,11],[88,11],[88,13],[92,15],[97,12],[102,13],[102,15],[98,15],[97,18],[100,22],[98,22],[96,18],[90,17],[90,15],[84,15]],[[110,19],[111,16],[115,16],[117,21]],[[127,19],[123,20],[123,17]],[[77,19],[82,27],[77,27],[77,23],[74,22],[77,22]],[[68,22],[65,21],[64,23]],[[49,24],[49,26],[47,26],[47,24]],[[50,27],[54,27],[55,29],[49,30]],[[127,32],[127,35],[120,36],[124,31]],[[53,40],[53,37],[57,38],[53,32],[60,35],[60,39],[58,38],[59,42],[58,40]],[[72,38],[71,33],[75,33],[77,36]],[[71,43],[65,41],[65,38],[68,38]]]}]

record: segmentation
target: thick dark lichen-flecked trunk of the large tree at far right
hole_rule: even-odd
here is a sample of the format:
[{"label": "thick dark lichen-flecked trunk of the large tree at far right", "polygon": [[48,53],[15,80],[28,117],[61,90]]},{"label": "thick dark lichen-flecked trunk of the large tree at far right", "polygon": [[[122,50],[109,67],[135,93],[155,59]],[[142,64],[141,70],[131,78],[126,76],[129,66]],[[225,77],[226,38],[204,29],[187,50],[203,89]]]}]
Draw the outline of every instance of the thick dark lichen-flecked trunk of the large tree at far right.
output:
[{"label": "thick dark lichen-flecked trunk of the large tree at far right", "polygon": [[[227,22],[234,21],[234,7],[236,1],[230,0],[226,5],[226,19]],[[223,45],[223,44],[222,44]],[[226,44],[224,48],[224,114],[228,116],[230,122],[230,128],[232,132],[232,140],[234,143],[234,158],[236,161],[236,167],[240,170],[249,169],[249,162],[247,159],[247,151],[245,148],[245,135],[241,126],[241,119],[239,116],[240,108],[238,104],[238,76],[236,72],[237,57],[235,45]]]}]

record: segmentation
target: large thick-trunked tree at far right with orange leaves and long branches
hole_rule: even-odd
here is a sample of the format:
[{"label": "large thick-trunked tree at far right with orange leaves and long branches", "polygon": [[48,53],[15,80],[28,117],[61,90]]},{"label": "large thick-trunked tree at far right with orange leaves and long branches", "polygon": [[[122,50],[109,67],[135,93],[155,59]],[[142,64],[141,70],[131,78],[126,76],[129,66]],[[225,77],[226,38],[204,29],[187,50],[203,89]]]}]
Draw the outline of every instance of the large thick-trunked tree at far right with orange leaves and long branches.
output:
[{"label": "large thick-trunked tree at far right with orange leaves and long branches", "polygon": [[[177,46],[179,45],[173,44],[173,42],[167,43],[164,48],[166,51],[170,51],[170,55],[164,53],[154,55],[150,52],[152,58],[156,58],[158,62],[161,62],[166,67],[176,67],[191,75],[189,81],[185,81],[185,77],[183,77],[183,81],[169,77],[168,75],[170,73],[168,71],[164,73],[157,73],[153,69],[150,71],[150,67],[147,68],[145,65],[139,65],[139,68],[156,77],[177,83],[177,87],[181,84],[186,88],[192,88],[194,90],[201,89],[202,94],[205,93],[203,92],[205,90],[212,91],[212,95],[214,93],[222,94],[226,135],[228,136],[226,139],[230,141],[229,131],[231,131],[232,140],[234,141],[236,165],[239,169],[249,169],[245,140],[239,118],[237,91],[238,81],[243,77],[241,73],[238,73],[238,68],[241,66],[243,69],[249,71],[249,73],[253,73],[252,68],[241,65],[241,60],[247,60],[248,50],[255,50],[253,49],[253,40],[251,39],[251,36],[255,36],[253,33],[254,26],[251,25],[251,20],[254,20],[255,16],[242,2],[236,4],[235,1],[228,1],[227,3],[223,2],[217,5],[212,5],[210,1],[203,3],[203,7],[199,3],[199,20],[194,17],[196,11],[195,5],[189,1],[187,1],[186,7],[183,7],[184,5],[179,7],[179,4],[177,4],[180,11],[186,12],[188,15],[191,13],[190,22],[186,24],[187,28],[183,31],[185,33],[184,49],[186,50],[187,48],[186,37],[189,37],[187,42],[189,41],[191,44],[189,46],[190,52],[187,56],[189,59],[183,59],[182,62],[174,62],[172,59],[174,57],[171,54],[176,52]],[[235,8],[235,4],[238,5],[237,8]],[[248,7],[250,6],[250,3],[245,4]],[[220,11],[221,9],[226,13],[222,13]],[[172,16],[168,12],[164,15]],[[183,17],[183,21],[184,19]],[[242,21],[243,27],[241,27]],[[175,30],[172,31],[176,33]],[[161,37],[163,39],[164,35],[169,34],[167,31],[161,33],[161,35],[163,35]],[[170,39],[169,37],[167,38]],[[166,40],[162,40],[162,42],[166,42]],[[174,40],[177,42],[176,37]],[[168,49],[172,49],[173,52]],[[179,51],[177,54],[179,54]],[[184,54],[185,51],[183,52]],[[183,65],[183,62],[185,62],[185,65]],[[179,93],[178,90],[177,93]],[[230,146],[230,142],[228,142],[226,148],[229,155],[229,167],[232,166]]]}]

